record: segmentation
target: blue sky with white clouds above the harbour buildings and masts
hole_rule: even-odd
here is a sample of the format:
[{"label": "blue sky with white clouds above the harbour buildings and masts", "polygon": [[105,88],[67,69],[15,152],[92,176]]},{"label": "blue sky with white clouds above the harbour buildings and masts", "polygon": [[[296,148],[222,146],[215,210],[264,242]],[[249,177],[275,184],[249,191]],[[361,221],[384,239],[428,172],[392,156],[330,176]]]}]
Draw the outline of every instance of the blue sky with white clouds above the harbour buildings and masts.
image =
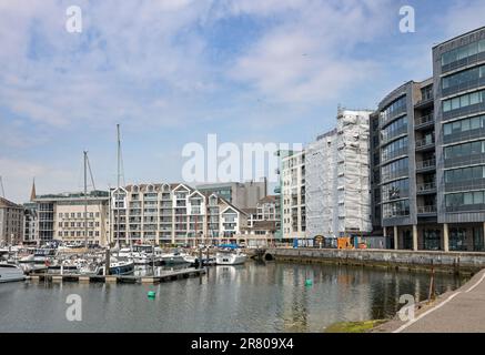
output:
[{"label": "blue sky with white clouds above the harbour buildings and masts", "polygon": [[[68,32],[67,9],[82,10]],[[415,9],[415,32],[400,9]],[[185,144],[306,144],[337,106],[375,109],[432,74],[433,44],[485,26],[483,0],[0,0],[6,197],[182,180]],[[91,185],[91,184],[90,184]],[[92,186],[90,186],[92,187]],[[1,193],[1,191],[0,191]]]}]

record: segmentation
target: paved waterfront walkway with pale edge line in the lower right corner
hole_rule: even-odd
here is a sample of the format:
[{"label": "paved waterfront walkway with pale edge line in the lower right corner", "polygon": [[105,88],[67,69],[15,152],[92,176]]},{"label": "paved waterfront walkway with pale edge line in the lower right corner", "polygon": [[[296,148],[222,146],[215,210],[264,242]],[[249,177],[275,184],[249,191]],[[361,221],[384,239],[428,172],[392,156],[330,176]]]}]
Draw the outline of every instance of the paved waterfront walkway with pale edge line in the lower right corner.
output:
[{"label": "paved waterfront walkway with pale edge line in the lower right corner", "polygon": [[485,333],[485,270],[456,291],[441,295],[415,314],[414,321],[395,318],[373,333]]}]

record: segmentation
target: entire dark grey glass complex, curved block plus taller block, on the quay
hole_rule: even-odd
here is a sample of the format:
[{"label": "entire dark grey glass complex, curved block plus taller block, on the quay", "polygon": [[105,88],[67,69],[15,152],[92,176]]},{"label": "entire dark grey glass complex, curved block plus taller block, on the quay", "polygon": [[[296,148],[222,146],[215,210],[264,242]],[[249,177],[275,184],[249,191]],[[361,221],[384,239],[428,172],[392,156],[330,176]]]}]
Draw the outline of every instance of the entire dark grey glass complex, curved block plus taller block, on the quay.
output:
[{"label": "entire dark grey glass complex, curved block plus taller block, on the quay", "polygon": [[371,115],[373,224],[387,247],[484,251],[484,88],[482,28],[435,45],[433,78]]}]

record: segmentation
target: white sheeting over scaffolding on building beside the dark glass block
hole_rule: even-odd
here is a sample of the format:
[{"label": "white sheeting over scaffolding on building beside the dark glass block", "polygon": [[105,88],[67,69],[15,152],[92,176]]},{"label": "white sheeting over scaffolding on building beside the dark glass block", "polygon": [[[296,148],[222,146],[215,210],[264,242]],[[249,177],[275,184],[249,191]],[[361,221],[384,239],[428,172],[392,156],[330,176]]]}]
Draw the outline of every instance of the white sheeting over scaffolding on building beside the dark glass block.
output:
[{"label": "white sheeting over scaffolding on building beside the dark glass block", "polygon": [[367,111],[340,111],[337,128],[305,155],[306,236],[371,232]]}]

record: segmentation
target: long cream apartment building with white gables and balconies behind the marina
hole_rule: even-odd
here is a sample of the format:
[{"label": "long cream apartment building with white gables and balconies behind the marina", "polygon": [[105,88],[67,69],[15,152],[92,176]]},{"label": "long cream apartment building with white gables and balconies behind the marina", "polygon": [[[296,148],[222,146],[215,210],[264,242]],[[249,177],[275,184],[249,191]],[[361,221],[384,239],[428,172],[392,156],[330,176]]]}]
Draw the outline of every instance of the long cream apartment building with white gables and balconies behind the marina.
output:
[{"label": "long cream apartment building with white gables and balconies behind the marina", "polygon": [[140,184],[111,191],[111,241],[120,244],[219,244],[241,234],[247,214],[215,193],[186,184]]}]

